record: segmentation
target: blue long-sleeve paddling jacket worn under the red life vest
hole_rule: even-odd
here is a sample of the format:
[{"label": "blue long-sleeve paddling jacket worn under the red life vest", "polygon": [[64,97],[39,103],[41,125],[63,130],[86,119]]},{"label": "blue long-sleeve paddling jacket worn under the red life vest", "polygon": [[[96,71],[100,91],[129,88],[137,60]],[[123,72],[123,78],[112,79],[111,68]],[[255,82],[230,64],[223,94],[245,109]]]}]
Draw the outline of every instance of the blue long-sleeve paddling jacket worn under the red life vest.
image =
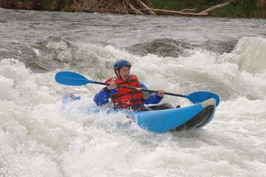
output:
[{"label": "blue long-sleeve paddling jacket worn under the red life vest", "polygon": [[[144,84],[140,82],[139,84],[140,84],[140,88],[148,89]],[[103,106],[107,104],[109,102],[109,98],[111,98],[114,94],[117,93],[117,88],[110,90],[110,93],[105,92],[104,91],[105,88],[106,87],[102,88],[101,91],[97,93],[93,98],[97,106]],[[157,104],[163,99],[163,97],[158,97],[156,93],[144,92],[144,91],[140,91],[140,92],[142,93],[142,100],[144,104]],[[135,104],[133,106],[138,107],[141,105]]]}]

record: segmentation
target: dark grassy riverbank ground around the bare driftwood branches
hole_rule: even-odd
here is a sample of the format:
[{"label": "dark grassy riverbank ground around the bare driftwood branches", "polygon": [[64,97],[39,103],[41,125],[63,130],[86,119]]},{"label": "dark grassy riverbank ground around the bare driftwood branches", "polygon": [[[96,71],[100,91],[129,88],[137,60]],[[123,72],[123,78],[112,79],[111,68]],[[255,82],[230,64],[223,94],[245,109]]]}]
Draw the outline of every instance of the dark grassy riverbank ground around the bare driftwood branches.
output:
[{"label": "dark grassy riverbank ground around the bare driftwood branches", "polygon": [[[135,9],[139,9],[143,14],[151,14],[149,10],[144,10],[138,0],[124,0],[131,3]],[[124,2],[121,1],[121,2]],[[158,0],[142,0],[148,4],[151,9],[164,9],[165,11],[154,11],[156,15],[180,15],[172,13],[171,11],[182,11],[184,9],[192,10],[193,14],[200,13],[207,8],[217,5],[217,3],[228,2],[228,0],[179,0],[182,3],[176,3],[174,0],[165,0],[163,2]],[[179,2],[178,1],[178,2]],[[97,0],[0,0],[0,7],[6,9],[27,9],[27,10],[45,10],[45,11],[64,11],[64,12],[89,12],[89,13],[117,13],[117,14],[138,14],[133,9],[117,10],[117,9],[103,9],[88,5],[88,2],[99,3]],[[119,2],[119,1],[117,1]],[[209,2],[209,3],[208,3]],[[211,2],[211,3],[210,3]],[[259,2],[262,2],[259,4]],[[83,3],[83,4],[82,4]],[[86,4],[87,3],[87,4]],[[181,5],[180,5],[181,4]],[[88,6],[84,8],[84,6]],[[124,4],[125,5],[125,4]],[[128,4],[127,4],[128,5]],[[109,5],[108,5],[109,6]],[[83,8],[81,8],[83,7]],[[126,7],[126,5],[124,6]],[[249,8],[247,10],[247,7]],[[189,15],[181,14],[181,15]],[[246,0],[246,2],[236,0],[230,5],[214,10],[207,17],[227,17],[227,18],[266,18],[266,1]]]}]

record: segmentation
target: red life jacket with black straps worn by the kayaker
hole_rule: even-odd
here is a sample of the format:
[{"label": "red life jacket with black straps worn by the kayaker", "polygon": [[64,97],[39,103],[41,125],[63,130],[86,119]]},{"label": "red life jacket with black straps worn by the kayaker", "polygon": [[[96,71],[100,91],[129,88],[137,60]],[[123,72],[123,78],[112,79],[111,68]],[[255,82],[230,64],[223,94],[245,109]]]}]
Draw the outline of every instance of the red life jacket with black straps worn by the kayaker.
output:
[{"label": "red life jacket with black straps worn by the kayaker", "polygon": [[[108,82],[115,82],[117,85],[124,85],[130,87],[137,87],[140,88],[140,84],[136,75],[131,74],[127,81],[120,79],[119,77],[113,77],[105,81]],[[139,90],[127,89],[127,88],[117,88],[117,94],[111,97],[111,101],[113,102],[115,109],[118,108],[126,108],[136,105],[144,105],[142,100],[142,94]]]}]

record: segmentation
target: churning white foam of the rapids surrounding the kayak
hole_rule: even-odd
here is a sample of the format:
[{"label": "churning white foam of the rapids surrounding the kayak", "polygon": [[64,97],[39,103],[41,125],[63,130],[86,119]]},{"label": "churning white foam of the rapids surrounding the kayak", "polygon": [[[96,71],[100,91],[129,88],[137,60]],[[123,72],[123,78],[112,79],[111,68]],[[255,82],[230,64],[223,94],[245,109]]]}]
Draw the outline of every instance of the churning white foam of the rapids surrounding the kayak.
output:
[{"label": "churning white foam of the rapids surrounding the kayak", "polygon": [[[76,71],[86,73],[89,79],[104,81],[113,76],[111,63],[126,58],[132,64],[131,72],[149,89],[179,94],[206,89],[220,95],[221,102],[208,125],[199,130],[163,134],[142,130],[135,122],[118,127],[117,122],[124,121],[123,113],[92,114],[90,110],[96,108],[92,97],[102,85],[60,85],[54,80],[58,71],[32,73],[18,60],[2,59],[2,173],[5,176],[264,176],[265,71],[250,73],[239,69],[238,61],[232,60],[245,53],[238,48],[243,48],[241,43],[246,40],[264,43],[260,38],[242,39],[232,53],[219,55],[197,48],[177,58],[135,56],[112,46],[77,45],[80,50],[77,55],[94,56],[92,63],[83,61],[84,65],[94,64],[94,71],[83,68]],[[64,52],[64,44],[49,45]],[[62,111],[62,96],[67,92],[88,97],[71,102]],[[165,96],[163,102],[191,104],[185,98],[173,96]]]}]

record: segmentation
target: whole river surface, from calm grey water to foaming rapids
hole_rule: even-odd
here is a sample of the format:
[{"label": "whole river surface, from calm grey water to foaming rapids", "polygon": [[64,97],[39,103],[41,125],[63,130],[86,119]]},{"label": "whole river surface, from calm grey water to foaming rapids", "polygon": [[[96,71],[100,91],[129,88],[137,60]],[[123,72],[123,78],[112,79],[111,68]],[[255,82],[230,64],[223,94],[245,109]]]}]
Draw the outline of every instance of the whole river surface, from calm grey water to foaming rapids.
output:
[{"label": "whole river surface, from calm grey water to foaming rapids", "polygon": [[[64,13],[0,8],[0,176],[266,176],[266,20]],[[151,133],[95,108],[126,58],[149,89],[217,93],[197,130]],[[84,97],[61,109],[62,96]],[[165,96],[186,106],[189,100]]]}]

